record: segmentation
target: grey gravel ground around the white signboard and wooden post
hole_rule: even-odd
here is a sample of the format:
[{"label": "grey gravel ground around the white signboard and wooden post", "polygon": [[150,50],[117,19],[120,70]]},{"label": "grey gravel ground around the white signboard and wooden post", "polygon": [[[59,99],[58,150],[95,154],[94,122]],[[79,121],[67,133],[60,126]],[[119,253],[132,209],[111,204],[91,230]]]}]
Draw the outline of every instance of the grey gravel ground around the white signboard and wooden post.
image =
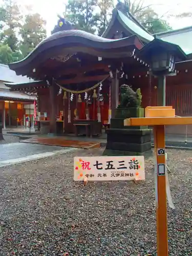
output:
[{"label": "grey gravel ground around the white signboard and wooden post", "polygon": [[[167,150],[169,256],[191,256],[191,151]],[[65,155],[0,168],[0,255],[157,255],[153,159],[146,180],[74,182]]]}]

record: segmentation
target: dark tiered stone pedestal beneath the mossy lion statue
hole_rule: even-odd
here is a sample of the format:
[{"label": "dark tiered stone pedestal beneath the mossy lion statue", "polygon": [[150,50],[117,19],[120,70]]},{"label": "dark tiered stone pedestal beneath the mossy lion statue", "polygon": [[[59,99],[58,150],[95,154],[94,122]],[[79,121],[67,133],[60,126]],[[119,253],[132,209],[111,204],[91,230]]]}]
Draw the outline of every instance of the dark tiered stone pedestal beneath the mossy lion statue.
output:
[{"label": "dark tiered stone pedestal beneath the mossy lion statue", "polygon": [[111,129],[106,130],[107,143],[103,155],[148,155],[151,154],[151,133],[147,126],[124,126],[124,119],[143,117],[144,109],[117,109],[111,119]]}]

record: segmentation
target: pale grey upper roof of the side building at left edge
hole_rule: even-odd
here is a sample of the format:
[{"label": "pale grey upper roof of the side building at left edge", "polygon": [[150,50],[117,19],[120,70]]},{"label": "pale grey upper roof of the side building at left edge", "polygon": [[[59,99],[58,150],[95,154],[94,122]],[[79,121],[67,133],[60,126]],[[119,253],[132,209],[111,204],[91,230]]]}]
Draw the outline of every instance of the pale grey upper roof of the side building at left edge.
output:
[{"label": "pale grey upper roof of the side building at left edge", "polygon": [[0,80],[6,82],[30,82],[27,76],[17,76],[15,71],[4,64],[0,64]]}]

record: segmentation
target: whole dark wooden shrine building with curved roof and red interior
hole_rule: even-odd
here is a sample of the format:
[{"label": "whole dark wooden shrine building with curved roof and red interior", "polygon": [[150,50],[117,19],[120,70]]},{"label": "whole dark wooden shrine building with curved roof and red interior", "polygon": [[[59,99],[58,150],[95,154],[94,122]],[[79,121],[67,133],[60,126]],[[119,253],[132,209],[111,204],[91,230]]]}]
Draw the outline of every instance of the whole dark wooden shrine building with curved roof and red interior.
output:
[{"label": "whole dark wooden shrine building with curved roof and red interior", "polygon": [[[187,55],[166,77],[166,105],[173,105],[178,116],[191,116],[191,34],[192,27],[152,35],[118,3],[101,37],[75,30],[63,19],[25,59],[9,64],[17,75],[33,81],[5,84],[10,91],[37,94],[42,134],[90,134],[91,127],[91,135],[99,135],[115,115],[122,84],[141,89],[143,108],[157,105],[157,78],[140,50],[159,39],[167,46],[178,45]],[[184,134],[185,127],[166,131]],[[192,134],[192,126],[188,131]]]}]

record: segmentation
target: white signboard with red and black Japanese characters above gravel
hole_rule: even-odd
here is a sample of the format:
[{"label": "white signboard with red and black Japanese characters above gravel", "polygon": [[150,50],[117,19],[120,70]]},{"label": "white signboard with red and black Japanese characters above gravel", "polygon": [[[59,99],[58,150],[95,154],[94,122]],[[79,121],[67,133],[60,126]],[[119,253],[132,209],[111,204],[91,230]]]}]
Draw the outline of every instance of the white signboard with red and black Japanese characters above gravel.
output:
[{"label": "white signboard with red and black Japanese characters above gravel", "polygon": [[74,180],[144,180],[144,156],[74,157]]}]

